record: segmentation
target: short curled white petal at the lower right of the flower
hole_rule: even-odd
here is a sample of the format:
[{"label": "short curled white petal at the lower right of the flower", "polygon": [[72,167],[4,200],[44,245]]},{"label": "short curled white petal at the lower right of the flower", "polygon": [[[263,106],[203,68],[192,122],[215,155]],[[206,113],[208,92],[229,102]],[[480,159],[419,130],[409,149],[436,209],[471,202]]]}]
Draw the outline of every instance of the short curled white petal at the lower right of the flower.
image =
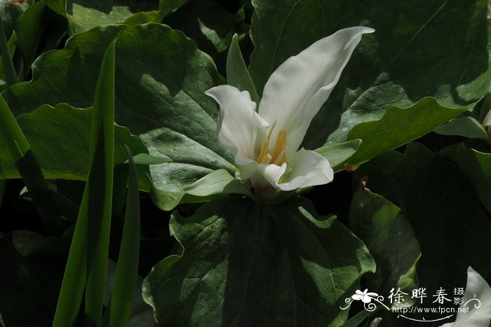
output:
[{"label": "short curled white petal at the lower right of the flower", "polygon": [[280,190],[295,190],[307,186],[329,183],[334,178],[334,171],[322,155],[301,148],[295,153],[292,162],[288,162],[291,172],[286,181],[276,183]]}]

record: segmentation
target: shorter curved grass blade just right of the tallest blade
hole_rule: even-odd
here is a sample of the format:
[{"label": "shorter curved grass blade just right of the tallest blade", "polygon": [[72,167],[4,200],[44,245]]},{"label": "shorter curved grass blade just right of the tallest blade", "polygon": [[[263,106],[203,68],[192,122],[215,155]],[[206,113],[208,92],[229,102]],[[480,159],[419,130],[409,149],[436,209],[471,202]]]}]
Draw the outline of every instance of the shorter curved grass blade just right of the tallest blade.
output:
[{"label": "shorter curved grass blade just right of the tallest blade", "polygon": [[114,276],[111,299],[105,312],[105,327],[126,326],[135,297],[140,252],[140,193],[133,156],[128,147],[128,195],[123,238]]}]

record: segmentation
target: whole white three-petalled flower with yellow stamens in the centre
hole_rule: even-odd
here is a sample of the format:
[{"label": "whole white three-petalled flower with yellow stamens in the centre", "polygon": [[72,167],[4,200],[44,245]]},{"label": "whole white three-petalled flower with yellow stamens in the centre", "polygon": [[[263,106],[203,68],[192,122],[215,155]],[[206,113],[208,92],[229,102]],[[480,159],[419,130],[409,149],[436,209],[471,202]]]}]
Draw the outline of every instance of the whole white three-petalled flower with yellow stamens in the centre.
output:
[{"label": "whole white three-petalled flower with yellow stamens in the centre", "polygon": [[218,139],[234,153],[240,178],[250,179],[256,194],[332,181],[328,160],[299,147],[362,35],[372,32],[342,29],[290,57],[269,77],[257,113],[247,91],[230,85],[206,91],[220,104]]}]

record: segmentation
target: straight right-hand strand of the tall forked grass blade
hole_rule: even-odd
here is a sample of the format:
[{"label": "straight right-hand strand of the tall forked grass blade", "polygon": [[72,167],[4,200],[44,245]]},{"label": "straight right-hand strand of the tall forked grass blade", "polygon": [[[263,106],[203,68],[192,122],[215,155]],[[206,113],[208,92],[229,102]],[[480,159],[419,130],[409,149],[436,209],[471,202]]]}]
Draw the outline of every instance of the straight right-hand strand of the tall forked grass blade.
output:
[{"label": "straight right-hand strand of the tall forked grass blade", "polygon": [[114,52],[106,50],[95,88],[90,137],[86,326],[100,326],[109,252],[114,174]]}]

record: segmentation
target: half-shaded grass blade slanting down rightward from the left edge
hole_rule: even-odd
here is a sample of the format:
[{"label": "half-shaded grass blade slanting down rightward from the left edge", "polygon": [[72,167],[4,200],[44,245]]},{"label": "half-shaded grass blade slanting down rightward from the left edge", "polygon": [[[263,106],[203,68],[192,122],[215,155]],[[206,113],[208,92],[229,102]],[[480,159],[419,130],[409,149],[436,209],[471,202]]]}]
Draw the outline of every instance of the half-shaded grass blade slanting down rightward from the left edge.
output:
[{"label": "half-shaded grass blade slanting down rightward from the left edge", "polygon": [[65,228],[58,215],[53,197],[51,197],[51,190],[48,188],[48,183],[44,179],[24,133],[1,95],[0,137],[4,139],[7,151],[15,162],[27,190],[32,195],[46,232],[51,236],[59,237]]}]

